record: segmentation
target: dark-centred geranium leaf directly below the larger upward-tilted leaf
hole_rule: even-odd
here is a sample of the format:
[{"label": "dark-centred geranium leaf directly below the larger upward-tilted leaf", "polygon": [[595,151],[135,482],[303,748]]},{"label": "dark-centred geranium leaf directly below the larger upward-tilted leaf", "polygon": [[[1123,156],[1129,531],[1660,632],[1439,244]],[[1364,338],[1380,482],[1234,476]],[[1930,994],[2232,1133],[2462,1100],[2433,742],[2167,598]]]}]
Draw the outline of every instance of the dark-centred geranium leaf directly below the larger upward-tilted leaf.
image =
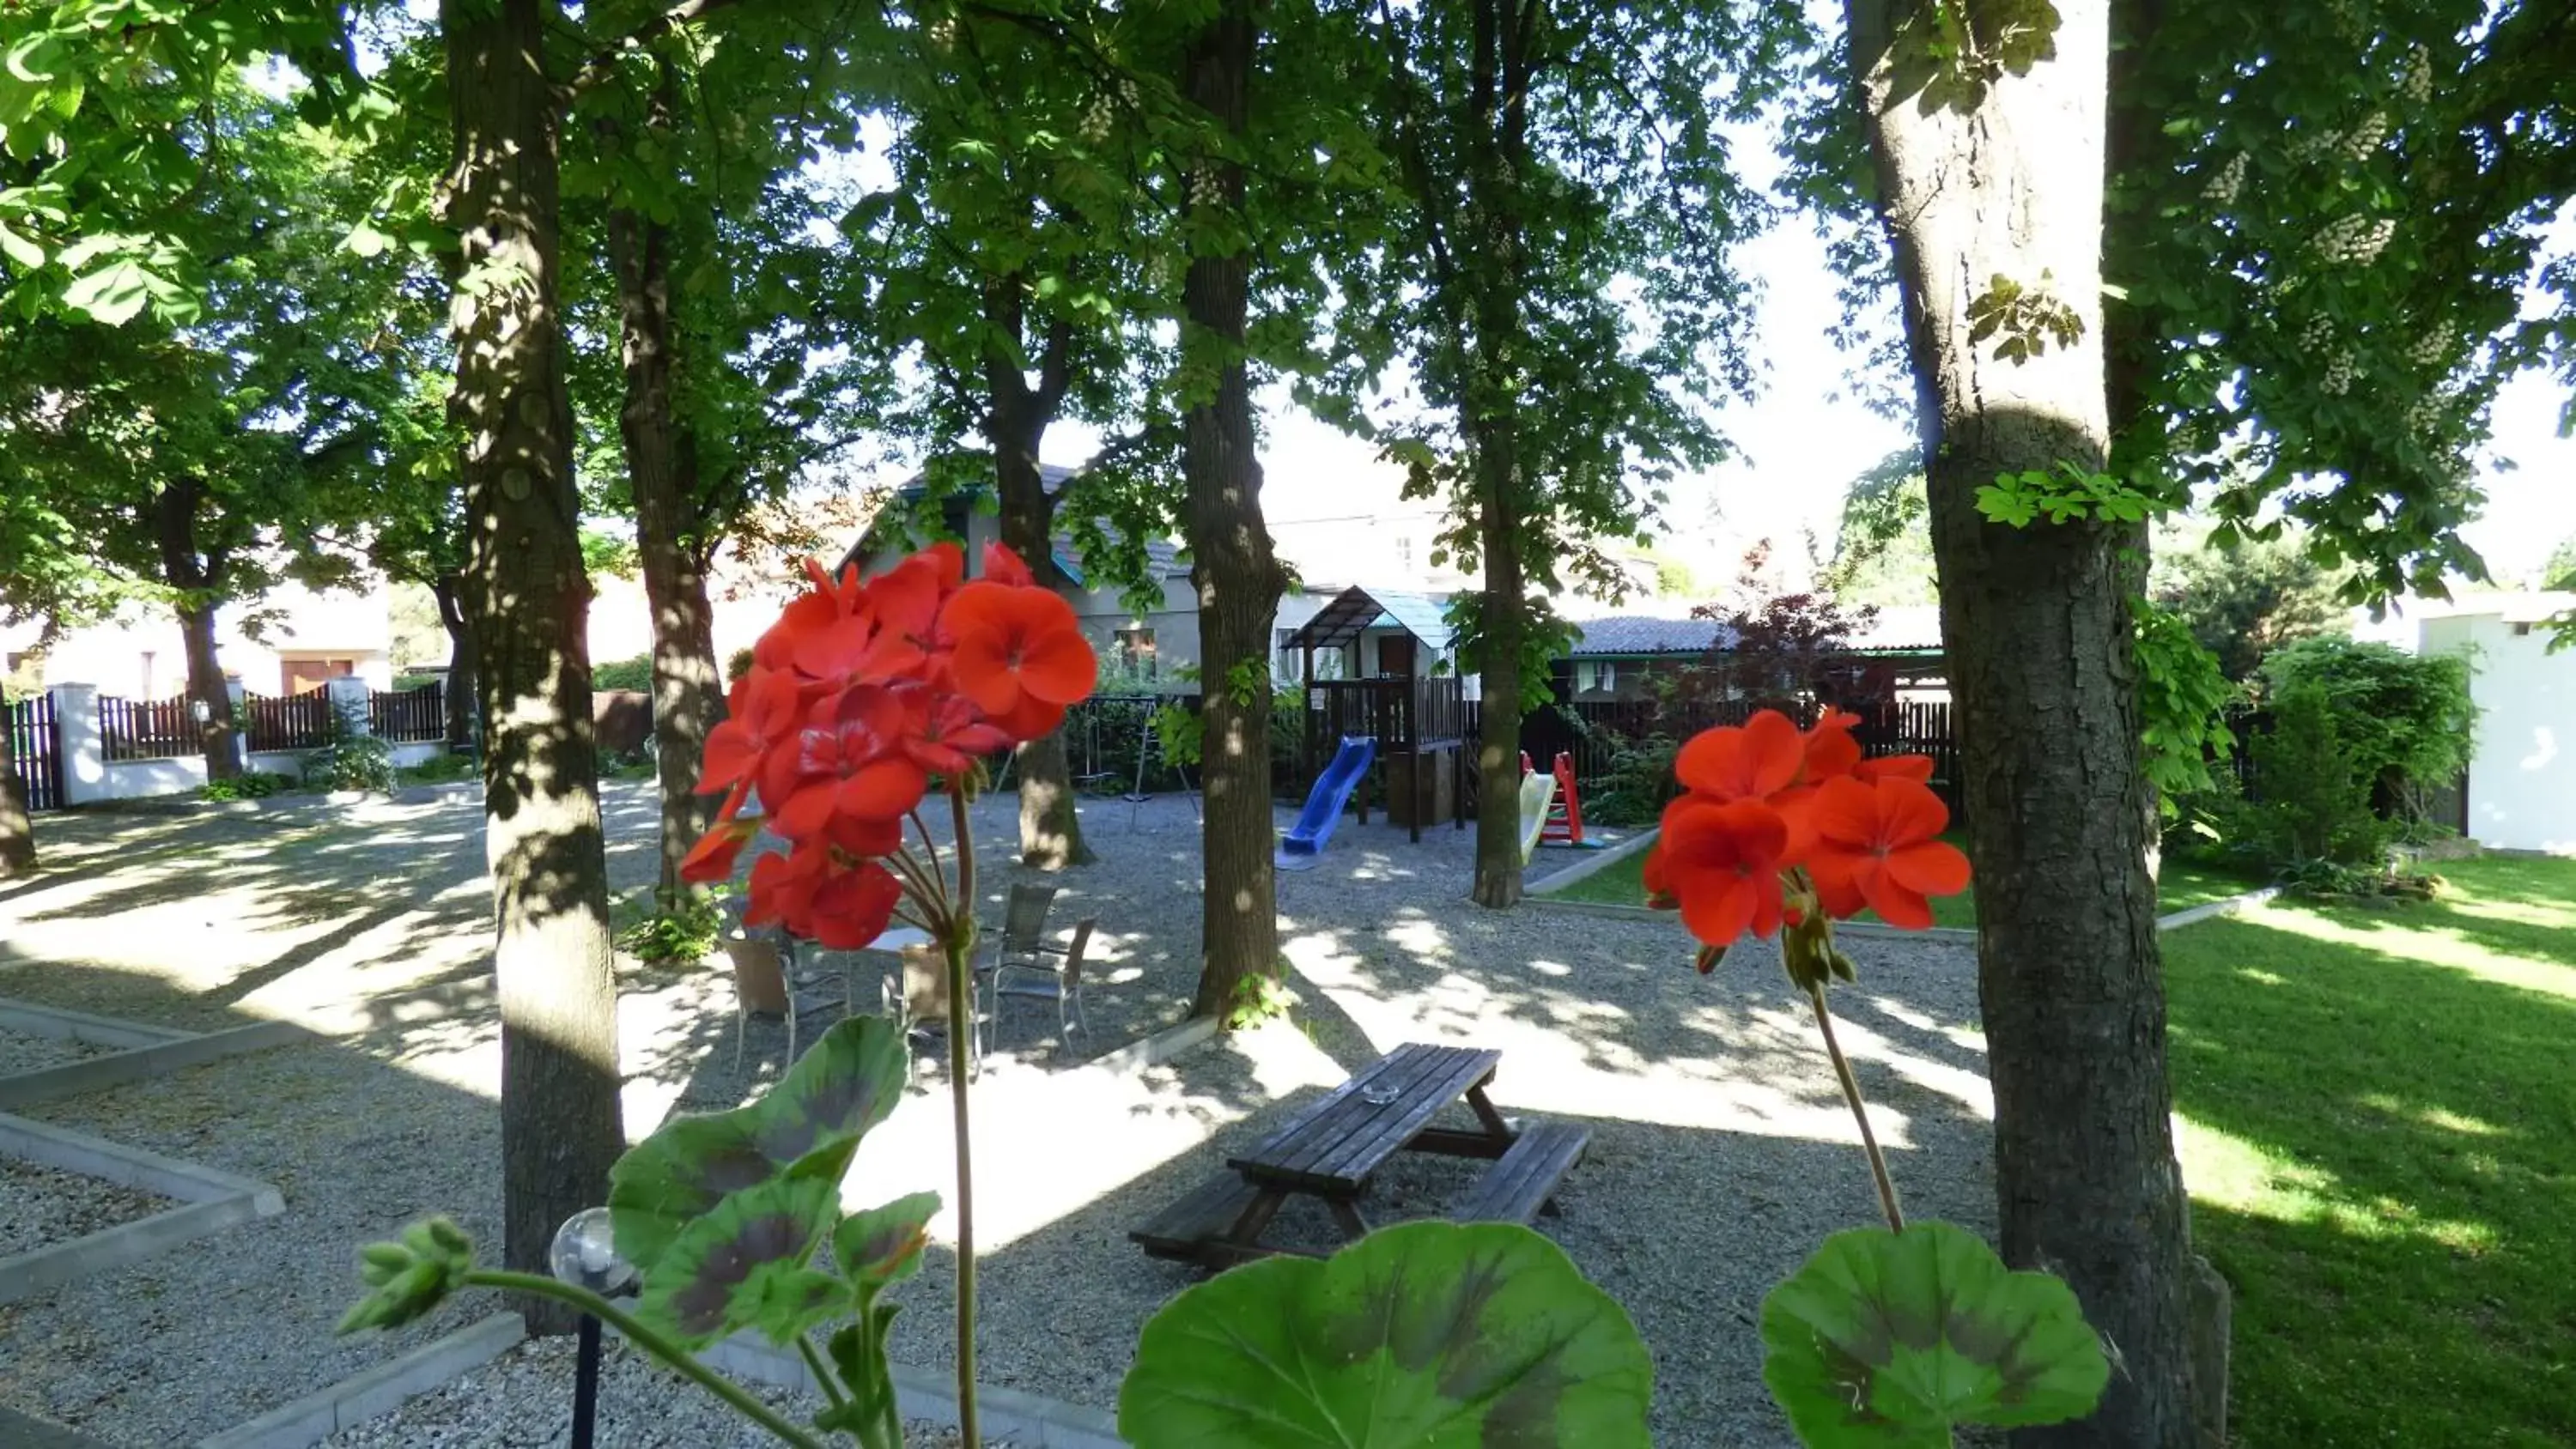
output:
[{"label": "dark-centred geranium leaf directly below the larger upward-tilted leaf", "polygon": [[781,1176],[747,1186],[670,1243],[644,1274],[636,1315],[690,1346],[737,1328],[788,1343],[848,1313],[842,1282],[811,1266],[837,1217],[840,1184],[832,1179]]}]

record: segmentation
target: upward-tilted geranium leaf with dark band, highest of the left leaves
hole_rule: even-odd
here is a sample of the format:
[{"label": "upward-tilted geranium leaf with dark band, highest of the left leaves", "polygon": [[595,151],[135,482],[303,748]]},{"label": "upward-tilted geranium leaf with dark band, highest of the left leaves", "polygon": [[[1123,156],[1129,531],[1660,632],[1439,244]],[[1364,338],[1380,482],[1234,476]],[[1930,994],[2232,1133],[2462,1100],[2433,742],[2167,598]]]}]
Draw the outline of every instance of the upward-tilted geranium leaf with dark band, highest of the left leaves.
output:
[{"label": "upward-tilted geranium leaf with dark band, highest of the left leaves", "polygon": [[672,1117],[608,1171],[618,1256],[652,1277],[680,1230],[773,1176],[840,1181],[858,1140],[904,1091],[904,1035],[881,1017],[835,1024],[750,1107]]}]

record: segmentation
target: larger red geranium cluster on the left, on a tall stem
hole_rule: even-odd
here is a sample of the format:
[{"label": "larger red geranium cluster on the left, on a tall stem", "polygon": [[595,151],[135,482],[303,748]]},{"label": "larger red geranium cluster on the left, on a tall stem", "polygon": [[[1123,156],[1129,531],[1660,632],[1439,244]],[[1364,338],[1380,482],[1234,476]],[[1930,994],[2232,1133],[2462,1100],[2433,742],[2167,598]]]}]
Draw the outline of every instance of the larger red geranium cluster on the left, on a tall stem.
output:
[{"label": "larger red geranium cluster on the left, on a tall stem", "polygon": [[[724,806],[680,872],[732,878],[768,826],[788,849],[752,862],[742,921],[855,950],[904,896],[886,862],[933,777],[958,788],[979,757],[1051,734],[1097,661],[1072,605],[999,543],[976,582],[956,543],[866,582],[855,566],[806,574],[814,587],[760,636],[706,736],[698,790],[724,790]],[[742,813],[755,793],[765,816]]]}]

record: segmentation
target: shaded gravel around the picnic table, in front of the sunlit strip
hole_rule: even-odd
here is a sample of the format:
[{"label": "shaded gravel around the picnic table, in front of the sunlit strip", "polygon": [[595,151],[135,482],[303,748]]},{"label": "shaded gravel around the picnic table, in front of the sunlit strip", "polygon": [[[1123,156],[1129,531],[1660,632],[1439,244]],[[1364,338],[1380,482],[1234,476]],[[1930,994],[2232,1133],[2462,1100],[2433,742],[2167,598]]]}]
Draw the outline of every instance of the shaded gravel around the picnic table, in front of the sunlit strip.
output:
[{"label": "shaded gravel around the picnic table, in front of the sunlit strip", "polygon": [[[1510,1066],[1510,1063],[1507,1063]],[[979,1256],[981,1382],[1113,1410],[1144,1323],[1206,1274],[1149,1259],[1126,1235],[1226,1171],[1224,1158],[1319,1091],[1236,1122],[1200,1148]],[[1860,1148],[1759,1132],[1582,1120],[1592,1148],[1535,1228],[1615,1297],[1656,1359],[1656,1444],[1788,1444],[1762,1387],[1757,1320],[1770,1292],[1834,1230],[1875,1223]],[[1986,1122],[1924,1125],[1935,1145],[1891,1153],[1909,1212],[1991,1235]],[[1363,1199],[1373,1225],[1443,1217],[1484,1171],[1479,1161],[1399,1153]],[[1329,1251],[1321,1204],[1280,1210],[1270,1241]],[[896,1289],[894,1359],[945,1369],[953,1343],[953,1253]]]}]

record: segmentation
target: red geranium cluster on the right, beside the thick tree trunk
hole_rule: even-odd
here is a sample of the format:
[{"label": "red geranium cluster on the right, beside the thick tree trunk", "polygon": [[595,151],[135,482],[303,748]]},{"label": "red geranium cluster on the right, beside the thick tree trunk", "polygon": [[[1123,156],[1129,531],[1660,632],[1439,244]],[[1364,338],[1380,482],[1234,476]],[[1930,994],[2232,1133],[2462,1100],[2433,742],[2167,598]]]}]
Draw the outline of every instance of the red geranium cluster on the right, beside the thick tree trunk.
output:
[{"label": "red geranium cluster on the right, beside the thick tree trunk", "polygon": [[1968,857],[1940,839],[1950,808],[1924,785],[1932,757],[1862,759],[1855,723],[1826,710],[1801,734],[1759,710],[1692,736],[1672,767],[1685,793],[1646,854],[1646,896],[1680,906],[1690,934],[1721,950],[1808,911],[1929,927],[1929,896],[1968,888]]}]

